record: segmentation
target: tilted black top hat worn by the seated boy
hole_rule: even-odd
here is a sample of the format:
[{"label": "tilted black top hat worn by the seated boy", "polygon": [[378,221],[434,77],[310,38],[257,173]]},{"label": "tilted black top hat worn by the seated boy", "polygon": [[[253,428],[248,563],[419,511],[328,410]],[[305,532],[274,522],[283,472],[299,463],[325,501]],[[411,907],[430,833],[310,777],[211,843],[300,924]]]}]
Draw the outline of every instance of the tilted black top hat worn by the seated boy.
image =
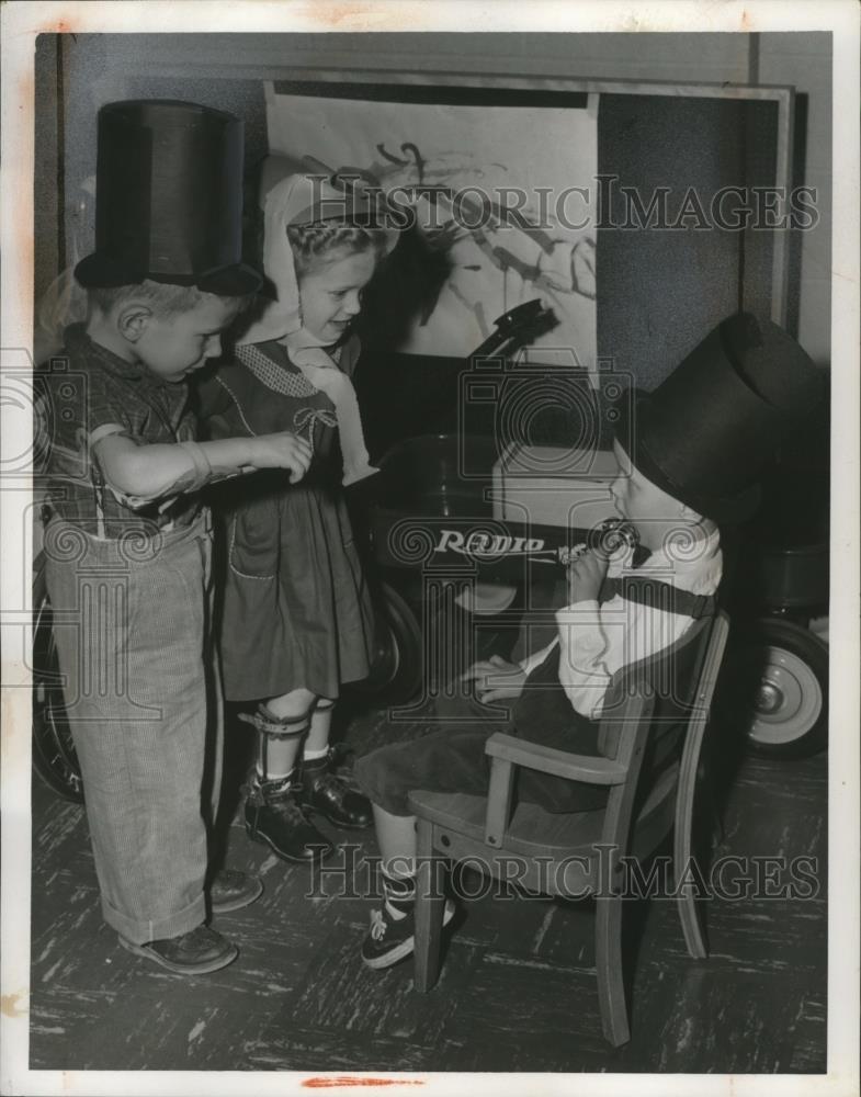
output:
[{"label": "tilted black top hat worn by the seated boy", "polygon": [[782,328],[738,313],[623,412],[616,437],[673,498],[714,521],[739,522],[756,511],[778,446],[826,387],[826,371]]}]

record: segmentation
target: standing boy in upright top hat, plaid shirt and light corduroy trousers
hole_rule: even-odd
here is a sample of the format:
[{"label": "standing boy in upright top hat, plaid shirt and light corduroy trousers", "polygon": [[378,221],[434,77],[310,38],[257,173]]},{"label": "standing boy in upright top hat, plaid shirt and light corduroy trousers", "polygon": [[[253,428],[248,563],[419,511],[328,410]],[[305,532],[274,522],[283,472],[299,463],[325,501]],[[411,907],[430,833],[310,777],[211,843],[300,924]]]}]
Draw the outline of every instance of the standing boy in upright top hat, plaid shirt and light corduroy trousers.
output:
[{"label": "standing boy in upright top hat, plaid shirt and light corduroy trousers", "polygon": [[194,441],[186,380],[260,284],[239,262],[239,127],[189,103],[102,110],[97,250],[76,269],[89,318],[66,331],[67,367],[42,375],[63,400],[46,580],[102,911],[121,945],[178,973],[237,955],[205,925],[205,887],[216,914],[262,891],[207,874],[222,728],[197,489],[264,467],[299,478],[310,457],[290,433]]}]

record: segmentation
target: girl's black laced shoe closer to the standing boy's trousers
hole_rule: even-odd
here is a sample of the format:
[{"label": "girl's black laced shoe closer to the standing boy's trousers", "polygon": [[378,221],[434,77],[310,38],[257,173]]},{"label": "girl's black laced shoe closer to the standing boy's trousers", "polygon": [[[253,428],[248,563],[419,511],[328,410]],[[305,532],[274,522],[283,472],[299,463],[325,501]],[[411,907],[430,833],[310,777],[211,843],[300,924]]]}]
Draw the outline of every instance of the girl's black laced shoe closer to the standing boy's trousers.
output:
[{"label": "girl's black laced shoe closer to the standing boy's trousers", "polygon": [[252,841],[265,842],[282,860],[297,864],[321,861],[335,850],[305,814],[290,778],[260,781],[254,777],[247,790],[246,833]]}]

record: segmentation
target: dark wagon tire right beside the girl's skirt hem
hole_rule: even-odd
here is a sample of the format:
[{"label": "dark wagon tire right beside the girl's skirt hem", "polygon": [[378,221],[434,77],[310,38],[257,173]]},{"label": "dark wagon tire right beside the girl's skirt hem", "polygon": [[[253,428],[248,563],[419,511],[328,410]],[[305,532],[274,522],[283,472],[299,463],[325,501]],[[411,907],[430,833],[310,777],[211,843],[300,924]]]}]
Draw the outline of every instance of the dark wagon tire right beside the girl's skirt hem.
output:
[{"label": "dark wagon tire right beside the girl's skirt hem", "polygon": [[406,704],[422,683],[422,635],[409,602],[387,583],[374,597],[375,653],[371,674],[352,682],[350,692],[385,705]]}]

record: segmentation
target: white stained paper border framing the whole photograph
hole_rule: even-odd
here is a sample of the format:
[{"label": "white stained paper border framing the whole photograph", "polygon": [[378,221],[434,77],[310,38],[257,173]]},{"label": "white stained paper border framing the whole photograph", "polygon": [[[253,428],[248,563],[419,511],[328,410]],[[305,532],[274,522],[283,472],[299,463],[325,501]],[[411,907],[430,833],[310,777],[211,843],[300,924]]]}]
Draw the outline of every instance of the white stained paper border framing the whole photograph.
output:
[{"label": "white stained paper border framing the whole photograph", "polygon": [[[423,1083],[428,1093],[563,1094],[576,1077],[582,1094],[735,1095],[849,1094],[858,1092],[859,1030],[859,10],[853,0],[816,0],[791,5],[748,3],[523,4],[378,2],[341,3],[160,3],[134,4],[20,2],[4,4],[2,19],[2,329],[0,369],[20,367],[33,328],[33,163],[34,44],[38,33],[161,33],[202,26],[218,32],[369,31],[566,31],[605,32],[768,32],[831,31],[834,34],[834,228],[831,278],[831,645],[829,755],[829,949],[828,1074],[781,1075],[548,1075],[468,1076],[397,1072],[405,1085]],[[838,108],[839,104],[839,109]],[[2,407],[2,467],[32,445],[29,414]],[[30,1071],[30,584],[22,531],[29,521],[29,475],[3,476],[2,598],[2,1040],[0,1089],[9,1094],[206,1094],[305,1092],[310,1072],[63,1072]],[[315,1075],[321,1072],[315,1072]],[[361,1077],[361,1072],[356,1072]],[[468,1078],[465,1083],[464,1077]],[[365,1087],[376,1088],[376,1087]],[[385,1092],[400,1092],[387,1085]]]}]

